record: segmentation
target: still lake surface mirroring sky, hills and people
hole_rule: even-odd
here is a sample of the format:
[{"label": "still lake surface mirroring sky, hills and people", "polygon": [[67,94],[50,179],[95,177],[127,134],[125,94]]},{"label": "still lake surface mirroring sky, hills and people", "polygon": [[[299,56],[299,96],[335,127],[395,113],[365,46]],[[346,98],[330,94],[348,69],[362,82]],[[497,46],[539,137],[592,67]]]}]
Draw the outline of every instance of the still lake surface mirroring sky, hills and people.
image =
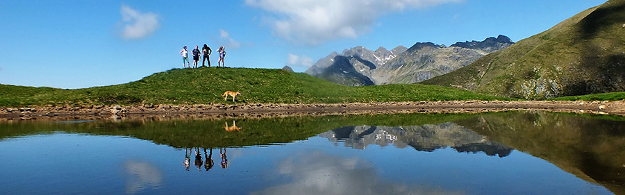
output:
[{"label": "still lake surface mirroring sky, hills and people", "polygon": [[505,112],[147,118],[17,121],[0,129],[0,194],[623,194],[625,189],[621,117]]}]

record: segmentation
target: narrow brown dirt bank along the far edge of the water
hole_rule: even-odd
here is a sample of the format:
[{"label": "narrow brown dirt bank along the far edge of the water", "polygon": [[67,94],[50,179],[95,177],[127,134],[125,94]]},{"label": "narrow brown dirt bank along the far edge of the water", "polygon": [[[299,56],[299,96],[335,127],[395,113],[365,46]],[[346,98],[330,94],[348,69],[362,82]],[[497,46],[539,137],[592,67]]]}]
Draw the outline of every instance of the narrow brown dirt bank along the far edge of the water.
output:
[{"label": "narrow brown dirt bank along the far edge of the water", "polygon": [[81,105],[34,108],[0,108],[0,121],[77,120],[158,117],[259,118],[301,115],[357,115],[390,113],[501,112],[546,110],[625,116],[625,101],[437,101],[392,103],[272,104],[238,105]]}]

